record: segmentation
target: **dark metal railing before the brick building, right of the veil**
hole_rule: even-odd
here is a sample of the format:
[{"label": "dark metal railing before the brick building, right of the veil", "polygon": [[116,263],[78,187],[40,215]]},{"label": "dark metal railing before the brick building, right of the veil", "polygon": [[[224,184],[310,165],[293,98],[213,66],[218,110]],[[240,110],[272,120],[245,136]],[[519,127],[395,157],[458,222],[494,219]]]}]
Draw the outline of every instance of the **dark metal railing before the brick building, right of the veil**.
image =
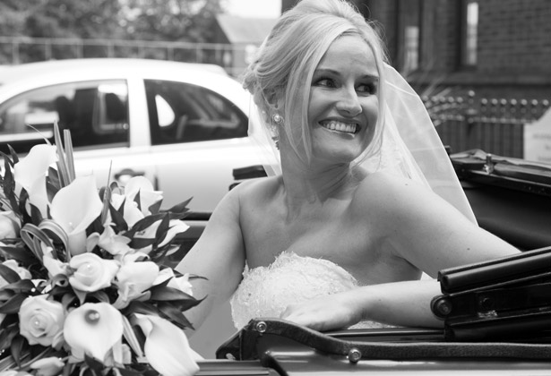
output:
[{"label": "dark metal railing before the brick building, right of the veil", "polygon": [[439,96],[423,98],[436,132],[452,152],[481,149],[523,158],[524,126],[549,108],[548,99]]}]

